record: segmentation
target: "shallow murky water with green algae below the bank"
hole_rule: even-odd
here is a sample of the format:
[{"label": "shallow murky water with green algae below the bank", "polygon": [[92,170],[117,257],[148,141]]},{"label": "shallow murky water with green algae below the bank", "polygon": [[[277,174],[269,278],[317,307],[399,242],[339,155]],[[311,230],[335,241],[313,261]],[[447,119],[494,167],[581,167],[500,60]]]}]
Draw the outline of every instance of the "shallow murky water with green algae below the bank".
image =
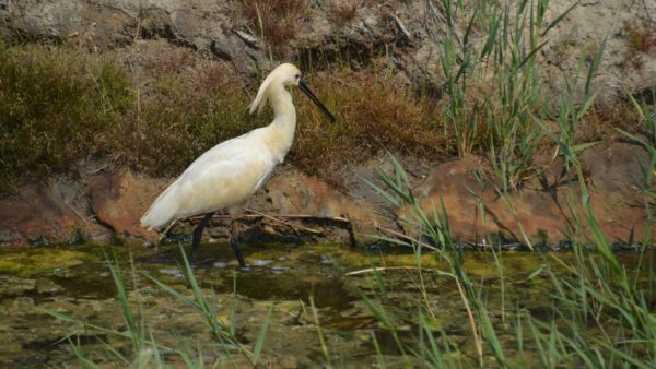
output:
[{"label": "shallow murky water with green algae below the bank", "polygon": [[[130,252],[129,252],[130,251]],[[414,254],[394,250],[360,250],[337,245],[267,245],[245,247],[249,267],[238,271],[227,245],[203,245],[196,258],[195,274],[209,295],[216,294],[220,319],[227,321],[232,307],[237,312],[237,335],[253,344],[272,307],[262,360],[273,367],[321,366],[325,355],[309,307],[313,296],[317,319],[331,362],[375,364],[372,336],[375,334],[388,366],[403,362],[393,336],[374,318],[360,294],[374,298],[397,322],[401,341],[412,342],[418,324],[417,306],[430,300],[435,314],[435,331],[449,336],[449,345],[462,355],[464,362],[476,362],[470,331],[456,285],[435,272],[446,270],[434,253],[424,253],[426,271],[420,281]],[[394,251],[394,252],[393,252]],[[492,319],[503,319],[504,310],[524,308],[549,317],[553,299],[542,271],[564,270],[561,261],[572,261],[571,252],[506,251],[501,255],[503,273],[492,252],[464,254],[470,278],[485,294]],[[134,274],[129,262],[133,259]],[[646,254],[646,262],[654,259]],[[629,272],[639,253],[619,252]],[[199,316],[173,299],[144,277],[152,275],[190,295],[181,257],[176,246],[160,250],[125,247],[48,247],[0,252],[0,366],[77,366],[67,337],[84,348],[85,355],[107,365],[120,365],[107,353],[107,345],[129,353],[126,340],[83,330],[80,324],[58,321],[44,310],[77,317],[99,326],[125,330],[116,287],[106,260],[117,260],[130,286],[131,301],[142,306],[149,333],[163,346],[177,347],[180,341],[200,349],[208,364],[225,355],[216,348]],[[384,287],[373,264],[385,269]],[[407,267],[407,269],[405,269]],[[348,272],[364,271],[356,275]],[[505,284],[500,298],[501,281]],[[137,284],[136,291],[133,284]],[[423,283],[423,288],[420,284]],[[236,295],[233,291],[236,290]],[[423,295],[421,291],[425,290]],[[505,305],[505,301],[508,306]],[[501,340],[513,340],[504,337]],[[129,357],[129,354],[126,354]],[[175,366],[175,358],[171,358]],[[241,362],[237,360],[237,364]],[[125,364],[125,362],[124,362]],[[412,362],[414,365],[414,362]]]}]

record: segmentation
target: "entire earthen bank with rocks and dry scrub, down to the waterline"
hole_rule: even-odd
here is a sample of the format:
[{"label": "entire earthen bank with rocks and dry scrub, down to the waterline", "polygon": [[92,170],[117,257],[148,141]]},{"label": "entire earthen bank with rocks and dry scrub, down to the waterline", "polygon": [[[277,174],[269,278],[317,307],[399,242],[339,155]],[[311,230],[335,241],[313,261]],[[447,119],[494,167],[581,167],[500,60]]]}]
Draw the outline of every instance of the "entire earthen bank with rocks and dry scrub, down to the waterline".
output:
[{"label": "entire earthen bank with rocks and dry scrub, down to the waterline", "polygon": [[[446,31],[445,10],[436,2],[360,5],[351,1],[301,1],[294,7],[278,7],[281,3],[174,0],[151,1],[147,7],[131,1],[0,0],[0,36],[13,35],[19,46],[25,40],[55,40],[51,49],[19,47],[7,53],[5,64],[13,62],[7,74],[24,75],[15,81],[7,78],[2,85],[13,90],[7,87],[10,98],[3,107],[9,118],[2,126],[11,140],[0,147],[0,163],[10,165],[4,166],[8,169],[0,172],[0,179],[9,182],[2,187],[5,191],[13,191],[12,186],[17,190],[0,199],[0,242],[143,242],[156,238],[141,229],[138,221],[172,178],[152,178],[144,172],[179,174],[215,143],[263,124],[268,116],[246,115],[249,94],[257,90],[250,86],[271,66],[289,60],[313,72],[308,79],[314,79],[319,95],[328,98],[328,106],[340,109],[340,119],[327,128],[298,104],[303,122],[290,164],[279,168],[251,200],[254,212],[245,219],[244,233],[248,241],[367,243],[372,241],[367,235],[412,235],[413,229],[400,222],[408,216],[406,211],[390,207],[366,183],[376,178],[379,168],[391,170],[386,157],[373,154],[380,147],[402,157],[424,211],[440,209],[444,202],[450,230],[459,239],[480,243],[483,237],[494,235],[504,242],[554,245],[579,236],[574,223],[575,215],[582,215],[581,186],[562,157],[548,152],[552,140],[547,130],[540,134],[549,143],[530,142],[527,146],[539,147],[535,148],[538,154],[523,157],[531,162],[530,169],[543,170],[520,178],[518,190],[507,195],[497,191],[501,184],[489,167],[490,158],[496,157],[492,153],[502,143],[495,146],[488,141],[503,141],[489,126],[496,123],[503,111],[481,122],[475,122],[473,116],[459,121],[465,127],[472,121],[480,126],[470,131],[478,141],[465,142],[472,147],[461,153],[456,150],[456,120],[445,116],[448,105],[457,102],[441,98],[445,96],[445,72],[440,68],[437,39],[444,44]],[[555,22],[570,5],[569,1],[552,1],[546,23]],[[656,85],[656,38],[649,33],[654,10],[647,1],[583,1],[540,39],[543,47],[534,49],[542,67],[537,79],[543,83],[540,88],[544,87],[544,95],[535,104],[557,96],[562,100],[585,97],[576,92],[553,96],[546,92],[566,90],[565,82],[576,75],[579,79],[573,90],[586,84],[586,90],[599,94],[599,106],[588,114],[575,114],[572,119],[581,121],[567,124],[578,124],[570,132],[572,144],[602,142],[581,152],[579,157],[595,215],[613,242],[633,243],[643,237],[648,222],[645,201],[653,202],[642,192],[647,166],[641,163],[647,163],[647,154],[642,146],[619,141],[614,130],[620,127],[644,133],[633,127],[639,119],[628,119],[628,110],[614,111],[613,104],[607,103],[622,100],[623,107],[633,109],[624,98],[629,92],[653,109],[653,95],[647,91]],[[471,11],[464,8],[458,21],[466,21]],[[254,14],[263,17],[257,20]],[[454,29],[453,37],[458,38],[459,27]],[[462,59],[467,47],[477,47],[485,39],[485,32],[472,35],[470,44],[454,48],[455,60]],[[73,45],[72,57],[66,55],[70,48],[61,56],[50,52],[61,44]],[[584,79],[576,71],[595,64],[594,56],[604,48],[596,73],[589,73],[595,78],[589,85],[582,83]],[[48,59],[51,53],[59,59]],[[106,59],[118,60],[116,68],[105,63]],[[43,68],[24,68],[24,60]],[[98,69],[97,76],[86,64],[80,70],[47,68],[77,63],[104,68]],[[523,66],[525,62],[517,68]],[[58,76],[52,81],[72,93],[61,94],[55,82],[25,70]],[[80,75],[84,79],[75,79]],[[102,88],[97,88],[97,81],[103,81]],[[490,81],[475,82],[462,98],[494,94]],[[379,88],[367,90],[378,84]],[[35,88],[23,88],[32,85]],[[540,88],[535,92],[541,95]],[[51,99],[46,105],[52,108],[48,114],[44,114],[43,99],[37,95],[43,91]],[[69,95],[75,92],[78,99],[63,104],[70,103]],[[98,98],[87,98],[90,92],[97,93]],[[65,98],[58,98],[61,95]],[[31,102],[30,108],[19,97]],[[494,102],[489,102],[490,108],[495,108]],[[478,103],[472,103],[473,110],[459,112],[473,115]],[[526,108],[534,108],[532,104]],[[85,109],[77,109],[80,106]],[[540,110],[546,111],[549,104],[542,107]],[[561,112],[560,117],[570,119],[564,108]],[[548,120],[559,119],[558,115],[541,118],[540,130],[542,123],[550,124]],[[525,127],[520,134],[529,136],[537,127]],[[55,128],[58,134],[52,133]],[[517,147],[506,147],[511,160],[525,154]],[[491,153],[485,156],[485,151]],[[453,158],[458,154],[468,157]],[[17,164],[12,165],[14,162]],[[22,178],[25,172],[32,176]],[[52,178],[34,184],[35,177],[48,175]],[[172,235],[186,237],[194,222],[183,222]],[[216,217],[211,235],[224,237],[224,226]]]}]

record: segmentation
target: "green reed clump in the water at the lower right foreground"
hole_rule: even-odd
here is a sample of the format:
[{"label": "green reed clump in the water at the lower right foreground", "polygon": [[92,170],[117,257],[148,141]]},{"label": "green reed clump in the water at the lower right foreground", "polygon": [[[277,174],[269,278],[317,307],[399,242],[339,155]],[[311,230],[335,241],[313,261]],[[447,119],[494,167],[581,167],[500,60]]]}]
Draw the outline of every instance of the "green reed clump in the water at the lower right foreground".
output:
[{"label": "green reed clump in the water at the lower right foreground", "polygon": [[[469,332],[475,361],[479,367],[589,367],[651,368],[656,362],[656,319],[653,309],[654,253],[648,243],[643,245],[639,265],[628,270],[617,259],[593,212],[594,199],[587,190],[576,151],[567,143],[550,134],[562,150],[577,174],[581,201],[570,205],[574,218],[574,261],[565,262],[558,254],[535,254],[550,258],[534,271],[528,279],[540,279],[548,298],[544,313],[529,308],[526,301],[515,300],[507,294],[516,286],[509,284],[502,270],[502,257],[494,253],[493,267],[500,278],[493,287],[485,281],[470,276],[465,253],[454,240],[448,227],[447,210],[424,210],[412,193],[408,177],[398,162],[393,158],[395,175],[380,175],[379,183],[370,183],[374,190],[395,205],[394,217],[405,229],[413,229],[410,239],[393,239],[382,236],[380,240],[410,246],[419,255],[426,247],[436,247],[435,258],[444,269],[422,269],[417,258],[415,272],[409,273],[409,282],[417,287],[417,316],[413,337],[398,342],[402,353],[415,356],[425,366],[433,368],[468,367],[471,357],[461,355],[461,348],[448,343],[447,332],[437,330],[443,317],[438,306],[430,298],[423,281],[435,276],[448,278],[456,286],[459,308],[448,311],[449,316],[461,314],[469,321]],[[402,210],[401,216],[396,211]],[[482,216],[485,216],[482,213]],[[485,219],[482,219],[485,222]],[[485,237],[485,239],[492,239]],[[651,241],[651,239],[649,239]],[[426,243],[429,242],[429,245]],[[490,243],[492,247],[495,245]],[[586,248],[591,245],[593,249]],[[551,265],[555,264],[558,269]],[[374,269],[374,273],[379,273]],[[634,275],[634,277],[631,277]],[[382,281],[377,275],[377,281]],[[419,282],[418,282],[419,281]],[[645,282],[646,281],[646,282]],[[444,286],[444,282],[441,283]],[[380,288],[384,290],[385,288]],[[500,290],[496,294],[493,290]],[[383,296],[379,296],[384,299]],[[395,326],[386,318],[383,305],[371,297],[365,299],[372,314],[394,334]],[[500,310],[501,309],[501,310]],[[512,338],[508,338],[512,337]]]}]

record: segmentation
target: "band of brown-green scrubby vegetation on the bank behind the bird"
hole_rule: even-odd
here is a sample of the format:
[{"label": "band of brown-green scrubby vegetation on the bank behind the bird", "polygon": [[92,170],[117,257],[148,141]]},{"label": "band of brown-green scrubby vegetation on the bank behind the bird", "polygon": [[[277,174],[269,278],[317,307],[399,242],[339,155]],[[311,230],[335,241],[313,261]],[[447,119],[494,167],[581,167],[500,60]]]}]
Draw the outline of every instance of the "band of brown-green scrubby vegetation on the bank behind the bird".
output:
[{"label": "band of brown-green scrubby vegetation on the bank behind the bird", "polygon": [[[255,127],[257,84],[192,51],[109,57],[77,48],[0,49],[0,192],[25,180],[75,172],[82,159],[109,160],[151,176],[178,175],[201,153]],[[308,82],[338,121],[328,123],[297,96],[291,160],[339,182],[336,169],[389,148],[436,157],[443,151],[436,108],[373,69],[337,69]]]}]

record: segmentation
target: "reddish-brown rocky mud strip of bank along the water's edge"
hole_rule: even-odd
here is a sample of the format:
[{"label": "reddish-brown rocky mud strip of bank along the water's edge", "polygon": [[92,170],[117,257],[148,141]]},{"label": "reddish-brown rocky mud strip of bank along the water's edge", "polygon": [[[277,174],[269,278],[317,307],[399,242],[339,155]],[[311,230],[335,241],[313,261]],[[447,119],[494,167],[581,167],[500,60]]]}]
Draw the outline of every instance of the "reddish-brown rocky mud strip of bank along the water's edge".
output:
[{"label": "reddish-brown rocky mud strip of bank along the water's edge", "polygon": [[[639,145],[616,142],[588,148],[581,158],[595,214],[609,240],[640,241],[647,226],[641,191],[641,160],[647,163],[647,154]],[[499,183],[483,159],[402,162],[423,209],[432,212],[444,201],[452,231],[460,240],[480,243],[491,235],[503,242],[557,245],[575,236],[569,204],[581,211],[579,183],[559,159],[512,192],[509,205],[499,195]],[[142,243],[156,239],[155,233],[139,227],[139,218],[172,179],[145,178],[109,167],[97,171],[94,166],[97,164],[81,167],[78,179],[25,187],[1,199],[2,245]],[[371,235],[412,235],[412,229],[399,226],[398,217],[407,214],[393,209],[366,184],[380,170],[393,170],[385,157],[352,168],[344,175],[348,189],[337,189],[293,166],[279,168],[248,204],[253,212],[244,218],[244,240],[366,245],[374,241]],[[197,221],[180,222],[171,237],[188,240]],[[226,226],[227,222],[216,216],[208,236],[219,240],[227,237]]]}]

